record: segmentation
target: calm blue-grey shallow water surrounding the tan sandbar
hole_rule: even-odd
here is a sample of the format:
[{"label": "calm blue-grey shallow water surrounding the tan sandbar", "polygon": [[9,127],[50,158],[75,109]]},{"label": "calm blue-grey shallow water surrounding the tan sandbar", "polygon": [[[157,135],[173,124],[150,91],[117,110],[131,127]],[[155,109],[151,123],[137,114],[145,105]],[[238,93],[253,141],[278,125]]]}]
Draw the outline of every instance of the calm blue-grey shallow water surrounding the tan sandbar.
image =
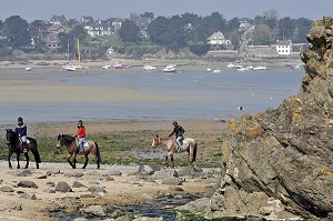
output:
[{"label": "calm blue-grey shallow water surrounding the tan sandbar", "polygon": [[[6,71],[16,74],[21,70],[4,69],[0,70],[0,74]],[[80,76],[72,72],[59,73],[58,69],[39,71],[48,71],[46,79],[52,80],[52,84],[122,87],[153,94],[201,99],[185,102],[0,103],[0,123],[16,122],[18,115],[23,115],[26,122],[78,119],[230,119],[278,108],[284,98],[299,92],[304,74],[304,70],[291,72],[284,68],[249,72],[225,69],[220,73],[183,70],[171,74],[161,71],[129,70],[124,73],[99,69]],[[21,74],[21,78],[29,79],[27,74]],[[243,110],[239,111],[239,107],[243,107]]]}]

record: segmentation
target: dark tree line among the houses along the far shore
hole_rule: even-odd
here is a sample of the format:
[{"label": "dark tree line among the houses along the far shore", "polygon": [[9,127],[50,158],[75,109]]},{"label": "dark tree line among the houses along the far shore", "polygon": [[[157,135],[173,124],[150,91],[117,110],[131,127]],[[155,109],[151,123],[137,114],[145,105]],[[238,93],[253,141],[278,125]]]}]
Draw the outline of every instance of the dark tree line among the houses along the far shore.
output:
[{"label": "dark tree line among the houses along the far shore", "polygon": [[[221,31],[224,37],[231,41],[231,48],[219,46],[219,50],[233,49],[240,47],[242,40],[246,39],[254,46],[269,46],[278,40],[292,40],[294,43],[305,43],[312,20],[306,18],[292,19],[290,17],[279,18],[275,10],[265,11],[263,16],[256,16],[254,19],[233,18],[226,20],[223,14],[212,12],[210,16],[201,17],[194,13],[183,13],[172,17],[159,16],[154,18],[152,12],[144,12],[141,17],[151,18],[148,28],[142,30],[137,26],[138,18],[130,18],[122,22],[117,34],[110,38],[117,38],[115,48],[122,53],[144,53],[147,47],[165,48],[175,52],[182,49],[190,49],[194,54],[205,54],[211,50],[208,44],[208,38],[216,31]],[[246,21],[249,29],[240,27]],[[49,52],[49,49],[40,39],[40,30],[48,26],[44,21],[36,20],[28,23],[19,16],[12,16],[0,21],[0,48],[28,49],[31,41],[34,42],[34,51]],[[83,24],[75,20],[69,20],[69,32],[58,33],[61,40],[60,51],[67,50],[67,46],[75,46],[75,39],[80,39],[87,44],[91,44]],[[249,31],[251,30],[251,31]],[[89,40],[88,40],[89,39]],[[90,41],[90,42],[89,42]],[[97,44],[94,44],[97,46]],[[143,50],[142,48],[145,49]],[[129,48],[137,48],[129,50]],[[138,48],[141,49],[139,50]],[[101,48],[105,50],[107,47]],[[155,49],[154,49],[155,50]]]}]

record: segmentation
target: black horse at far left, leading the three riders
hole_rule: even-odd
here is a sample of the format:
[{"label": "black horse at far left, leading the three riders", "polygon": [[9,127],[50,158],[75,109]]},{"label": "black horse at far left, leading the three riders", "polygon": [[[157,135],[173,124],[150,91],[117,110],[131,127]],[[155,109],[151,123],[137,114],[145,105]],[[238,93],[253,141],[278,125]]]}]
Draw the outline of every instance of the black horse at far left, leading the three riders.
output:
[{"label": "black horse at far left, leading the three riders", "polygon": [[[41,163],[40,154],[37,149],[37,141],[33,138],[28,137],[28,142],[27,142],[27,152],[24,153],[24,157],[27,159],[26,163],[26,169],[29,167],[29,151],[32,152],[36,161],[36,168],[39,169],[39,163]],[[20,153],[23,153],[23,145],[22,142],[20,141],[19,135],[12,130],[12,129],[6,129],[6,143],[9,149],[9,154],[8,154],[8,163],[9,168],[11,169],[11,162],[10,158],[12,153],[17,153],[17,161],[18,161],[18,169],[20,169]]]}]

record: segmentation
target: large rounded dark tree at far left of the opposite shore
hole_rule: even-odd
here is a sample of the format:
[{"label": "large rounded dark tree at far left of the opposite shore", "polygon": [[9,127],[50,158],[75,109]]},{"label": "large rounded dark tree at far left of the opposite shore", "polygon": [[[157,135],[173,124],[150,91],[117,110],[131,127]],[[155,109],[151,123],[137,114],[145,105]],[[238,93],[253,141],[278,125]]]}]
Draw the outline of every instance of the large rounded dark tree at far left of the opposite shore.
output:
[{"label": "large rounded dark tree at far left of the opposite shore", "polygon": [[21,17],[12,16],[6,19],[2,31],[9,40],[9,44],[14,49],[21,49],[23,47],[31,46],[28,22]]}]

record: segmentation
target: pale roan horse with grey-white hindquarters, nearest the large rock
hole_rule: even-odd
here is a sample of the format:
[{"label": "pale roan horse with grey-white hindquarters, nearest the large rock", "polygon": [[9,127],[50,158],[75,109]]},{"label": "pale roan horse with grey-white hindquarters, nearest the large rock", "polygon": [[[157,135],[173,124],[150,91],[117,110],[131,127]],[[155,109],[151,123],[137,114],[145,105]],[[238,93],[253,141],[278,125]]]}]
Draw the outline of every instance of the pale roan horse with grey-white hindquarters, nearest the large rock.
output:
[{"label": "pale roan horse with grey-white hindquarters, nearest the large rock", "polygon": [[174,168],[173,153],[188,152],[190,155],[189,164],[195,162],[198,143],[192,138],[183,140],[182,150],[178,151],[178,145],[174,137],[160,137],[159,134],[153,137],[151,147],[157,148],[160,143],[165,144],[168,154],[165,155],[165,165],[169,167],[169,159],[171,161],[171,168]]}]

